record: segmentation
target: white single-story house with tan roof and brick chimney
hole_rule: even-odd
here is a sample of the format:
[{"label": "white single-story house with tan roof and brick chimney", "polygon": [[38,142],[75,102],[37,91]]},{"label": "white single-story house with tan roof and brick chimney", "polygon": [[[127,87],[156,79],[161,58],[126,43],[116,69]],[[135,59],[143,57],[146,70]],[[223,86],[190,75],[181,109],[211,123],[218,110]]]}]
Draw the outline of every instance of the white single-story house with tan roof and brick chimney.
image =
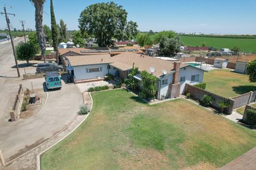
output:
[{"label": "white single-story house with tan roof and brick chimney", "polygon": [[[110,54],[66,56],[67,67],[74,80],[83,81],[102,79],[108,73],[126,79],[132,70],[132,65],[139,72],[150,72],[158,78],[157,99],[178,97],[185,91],[185,84],[197,84],[203,81],[203,69],[180,62],[166,61],[134,52],[124,52],[111,57]],[[152,71],[152,69],[151,69]],[[140,75],[135,77],[141,81]]]}]

